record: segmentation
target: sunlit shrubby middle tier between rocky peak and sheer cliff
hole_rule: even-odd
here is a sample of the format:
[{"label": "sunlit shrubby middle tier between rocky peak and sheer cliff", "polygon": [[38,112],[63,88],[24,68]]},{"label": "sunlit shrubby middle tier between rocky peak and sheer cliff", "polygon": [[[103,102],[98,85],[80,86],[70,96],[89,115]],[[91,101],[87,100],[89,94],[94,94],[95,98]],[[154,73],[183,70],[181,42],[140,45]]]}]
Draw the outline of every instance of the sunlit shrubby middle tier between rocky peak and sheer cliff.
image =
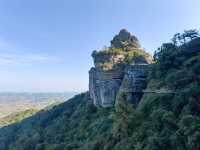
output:
[{"label": "sunlit shrubby middle tier between rocky peak and sheer cliff", "polygon": [[95,64],[98,64],[103,70],[112,70],[123,64],[148,64],[152,62],[151,55],[139,48],[125,51],[122,48],[109,47],[98,52],[93,51],[92,57]]}]

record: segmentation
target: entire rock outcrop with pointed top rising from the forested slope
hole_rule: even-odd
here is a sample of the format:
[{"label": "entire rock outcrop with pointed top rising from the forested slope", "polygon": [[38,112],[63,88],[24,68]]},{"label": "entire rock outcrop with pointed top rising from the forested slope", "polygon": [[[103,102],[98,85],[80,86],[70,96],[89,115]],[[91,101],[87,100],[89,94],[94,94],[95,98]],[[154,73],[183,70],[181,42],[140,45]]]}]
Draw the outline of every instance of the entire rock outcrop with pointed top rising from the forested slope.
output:
[{"label": "entire rock outcrop with pointed top rising from the forested slope", "polygon": [[111,46],[94,51],[94,65],[89,71],[89,92],[96,106],[112,107],[119,91],[137,105],[146,87],[148,64],[152,57],[140,48],[138,39],[122,29]]}]

